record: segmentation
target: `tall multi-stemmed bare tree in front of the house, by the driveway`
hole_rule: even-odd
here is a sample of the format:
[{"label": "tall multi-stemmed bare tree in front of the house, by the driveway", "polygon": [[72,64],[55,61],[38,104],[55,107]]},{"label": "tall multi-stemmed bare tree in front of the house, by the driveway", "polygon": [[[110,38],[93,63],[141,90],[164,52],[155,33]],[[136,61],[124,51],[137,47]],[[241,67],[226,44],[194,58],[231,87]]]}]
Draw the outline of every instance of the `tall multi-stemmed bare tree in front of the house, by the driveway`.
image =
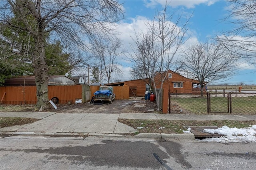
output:
[{"label": "tall multi-stemmed bare tree in front of the house, by the driveway", "polygon": [[136,34],[134,39],[136,47],[133,47],[134,54],[130,55],[135,68],[139,68],[139,72],[143,71],[146,74],[150,86],[155,89],[158,111],[161,108],[159,94],[168,78],[168,70],[176,66],[174,58],[176,53],[186,42],[186,25],[189,20],[185,20],[179,27],[178,25],[182,24],[182,16],[176,17],[175,13],[169,15],[167,7],[166,3],[162,12],[157,12],[154,20],[146,23],[148,33],[142,33],[141,36]]}]

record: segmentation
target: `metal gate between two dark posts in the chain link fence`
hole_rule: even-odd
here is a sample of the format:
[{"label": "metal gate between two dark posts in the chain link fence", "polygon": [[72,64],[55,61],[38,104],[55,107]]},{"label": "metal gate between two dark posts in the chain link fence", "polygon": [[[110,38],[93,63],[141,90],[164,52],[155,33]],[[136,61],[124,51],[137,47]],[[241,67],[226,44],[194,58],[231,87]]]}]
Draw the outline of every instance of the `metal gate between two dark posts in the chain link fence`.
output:
[{"label": "metal gate between two dark posts in the chain link fence", "polygon": [[207,93],[207,112],[230,113],[230,99],[229,93]]}]

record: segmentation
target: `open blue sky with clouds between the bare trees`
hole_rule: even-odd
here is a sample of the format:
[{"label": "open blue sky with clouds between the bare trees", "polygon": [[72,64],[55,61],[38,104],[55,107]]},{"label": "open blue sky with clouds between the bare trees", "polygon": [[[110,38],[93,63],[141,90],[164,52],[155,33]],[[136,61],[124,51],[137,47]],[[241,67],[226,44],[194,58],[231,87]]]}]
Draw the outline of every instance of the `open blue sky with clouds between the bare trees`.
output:
[{"label": "open blue sky with clouds between the bare trees", "polygon": [[[119,2],[123,3],[125,19],[117,23],[117,31],[119,32],[117,37],[122,40],[126,51],[130,51],[134,32],[146,31],[145,22],[152,20],[156,10],[162,10],[166,1],[121,0]],[[172,0],[169,2],[168,12],[173,13],[175,11],[177,14],[183,14],[184,18],[192,14],[187,27],[190,36],[186,45],[192,45],[200,41],[204,42],[210,37],[221,35],[221,32],[234,27],[231,23],[223,20],[229,14],[229,7],[225,0]],[[122,75],[113,75],[112,78],[120,80],[131,79],[129,70],[132,67],[132,63],[127,61],[126,56],[120,56],[118,62],[123,73]],[[234,76],[212,83],[256,84],[256,65],[241,63]]]}]

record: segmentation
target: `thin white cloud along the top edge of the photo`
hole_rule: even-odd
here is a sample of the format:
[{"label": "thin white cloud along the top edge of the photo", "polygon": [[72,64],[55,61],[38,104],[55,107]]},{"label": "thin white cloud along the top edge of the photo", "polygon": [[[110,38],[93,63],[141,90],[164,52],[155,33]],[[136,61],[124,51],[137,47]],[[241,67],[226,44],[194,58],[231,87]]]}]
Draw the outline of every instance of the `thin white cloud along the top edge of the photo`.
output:
[{"label": "thin white cloud along the top edge of the photo", "polygon": [[[206,4],[207,6],[211,6],[217,0],[168,0],[167,3],[169,6],[175,8],[177,6],[185,6],[186,8],[195,8],[199,4]],[[145,6],[147,8],[154,8],[158,4],[165,6],[165,0],[149,0],[145,1]]]}]

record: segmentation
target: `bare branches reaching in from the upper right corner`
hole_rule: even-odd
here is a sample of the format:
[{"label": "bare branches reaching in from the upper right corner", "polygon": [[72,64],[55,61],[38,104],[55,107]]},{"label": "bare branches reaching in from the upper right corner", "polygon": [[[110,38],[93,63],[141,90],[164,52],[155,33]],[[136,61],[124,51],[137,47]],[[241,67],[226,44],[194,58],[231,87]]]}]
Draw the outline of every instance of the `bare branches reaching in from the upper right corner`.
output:
[{"label": "bare branches reaching in from the upper right corner", "polygon": [[[216,40],[235,56],[251,61],[256,58],[256,0],[229,0],[230,15],[224,18],[235,28]],[[254,63],[255,64],[255,63]]]}]

